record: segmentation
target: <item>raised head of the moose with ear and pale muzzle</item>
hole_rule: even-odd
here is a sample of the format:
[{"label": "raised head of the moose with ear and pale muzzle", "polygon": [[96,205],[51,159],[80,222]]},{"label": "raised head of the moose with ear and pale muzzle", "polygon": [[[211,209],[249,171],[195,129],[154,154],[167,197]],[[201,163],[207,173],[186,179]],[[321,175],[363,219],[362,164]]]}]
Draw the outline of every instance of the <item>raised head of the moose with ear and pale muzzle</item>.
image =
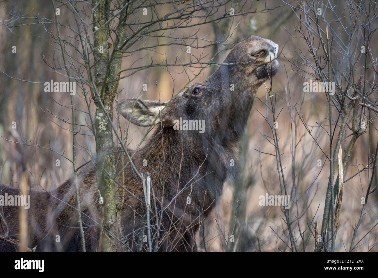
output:
[{"label": "raised head of the moose with ear and pale muzzle", "polygon": [[[237,43],[220,68],[208,79],[188,87],[170,101],[127,99],[118,111],[131,123],[177,130],[180,137],[195,137],[204,150],[214,145],[235,143],[245,129],[259,86],[276,74],[278,45],[249,36]],[[191,132],[182,130],[182,121]],[[200,132],[193,132],[195,127]],[[198,130],[197,128],[197,130]]]}]

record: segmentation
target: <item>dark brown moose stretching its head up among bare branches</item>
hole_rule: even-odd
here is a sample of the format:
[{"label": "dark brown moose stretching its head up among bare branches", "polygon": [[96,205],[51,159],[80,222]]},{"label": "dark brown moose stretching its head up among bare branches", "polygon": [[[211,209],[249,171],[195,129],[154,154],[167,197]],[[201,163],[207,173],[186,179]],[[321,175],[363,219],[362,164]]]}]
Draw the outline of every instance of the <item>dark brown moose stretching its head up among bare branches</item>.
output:
[{"label": "dark brown moose stretching its head up among bare branches", "polygon": [[[127,150],[117,163],[122,172],[120,221],[129,251],[146,250],[141,241],[146,226],[142,181],[135,173],[150,172],[154,207],[150,215],[153,250],[197,251],[196,233],[222,194],[223,183],[237,175],[238,144],[253,106],[256,90],[279,68],[278,45],[249,36],[237,43],[225,61],[203,82],[188,87],[170,101],[126,99],[118,112],[130,123],[155,126],[153,135],[137,151]],[[203,123],[203,130],[188,130],[177,120]],[[118,157],[122,152],[118,152]],[[144,167],[144,160],[148,167]],[[234,160],[235,166],[230,161]],[[101,238],[101,206],[96,182],[96,163],[77,173],[85,247],[96,251]],[[122,188],[120,188],[122,190]],[[18,195],[18,189],[1,185],[0,195]],[[27,212],[29,248],[36,251],[79,252],[81,235],[73,179],[51,192],[31,189]],[[0,207],[0,235],[17,240],[19,208]],[[156,236],[158,235],[158,236]],[[59,242],[56,241],[59,236]],[[114,240],[116,241],[116,240]],[[141,243],[142,242],[142,243]],[[0,239],[0,251],[17,251],[17,244]]]}]

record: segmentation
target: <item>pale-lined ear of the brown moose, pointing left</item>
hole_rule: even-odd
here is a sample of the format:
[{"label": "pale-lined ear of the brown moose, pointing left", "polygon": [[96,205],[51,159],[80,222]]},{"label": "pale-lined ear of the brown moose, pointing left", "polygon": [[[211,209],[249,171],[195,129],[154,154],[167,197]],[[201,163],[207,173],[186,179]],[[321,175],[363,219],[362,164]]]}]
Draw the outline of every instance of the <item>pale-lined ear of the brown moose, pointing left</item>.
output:
[{"label": "pale-lined ear of the brown moose, pointing left", "polygon": [[160,122],[163,117],[160,112],[166,105],[166,102],[160,101],[125,99],[118,104],[117,110],[130,123],[137,126],[152,126]]}]

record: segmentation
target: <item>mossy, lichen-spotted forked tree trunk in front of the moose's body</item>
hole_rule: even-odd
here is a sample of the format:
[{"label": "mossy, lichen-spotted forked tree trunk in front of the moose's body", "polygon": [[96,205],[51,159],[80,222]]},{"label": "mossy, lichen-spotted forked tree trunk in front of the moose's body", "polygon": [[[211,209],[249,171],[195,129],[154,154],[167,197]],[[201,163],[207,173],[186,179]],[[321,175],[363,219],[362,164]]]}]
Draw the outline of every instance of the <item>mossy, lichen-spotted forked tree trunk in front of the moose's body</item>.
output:
[{"label": "mossy, lichen-spotted forked tree trunk in front of the moose's body", "polygon": [[[124,2],[124,5],[128,5]],[[117,93],[120,76],[122,53],[118,51],[122,48],[122,43],[126,37],[126,16],[128,8],[121,6],[119,14],[120,21],[116,28],[116,39],[114,46],[108,47],[108,42],[112,42],[107,24],[107,15],[110,11],[110,2],[106,0],[93,0],[93,31],[95,46],[95,73],[94,83],[96,88],[92,91],[92,97],[96,104],[95,126],[96,126],[96,152],[97,161],[97,182],[104,198],[102,216],[104,217],[101,251],[119,251],[119,245],[114,238],[123,239],[123,228],[119,217],[121,206],[118,204],[118,186],[113,180],[116,175],[115,155],[110,154],[114,148],[112,124],[108,121],[105,111],[113,118],[113,101]],[[114,48],[113,48],[114,47]]]}]

